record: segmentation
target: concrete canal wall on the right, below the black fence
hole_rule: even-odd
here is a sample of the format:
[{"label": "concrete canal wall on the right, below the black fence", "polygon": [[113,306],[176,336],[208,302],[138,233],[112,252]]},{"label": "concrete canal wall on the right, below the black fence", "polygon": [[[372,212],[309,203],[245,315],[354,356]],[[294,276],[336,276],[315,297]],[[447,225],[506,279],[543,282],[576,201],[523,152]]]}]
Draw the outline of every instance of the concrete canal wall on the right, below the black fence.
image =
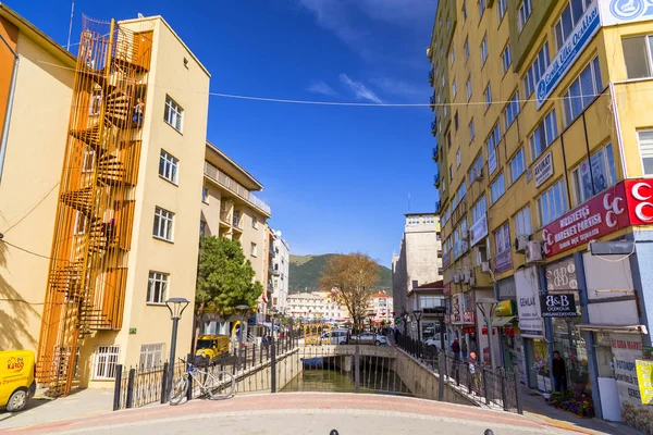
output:
[{"label": "concrete canal wall on the right, below the black fence", "polygon": [[[416,361],[408,355],[397,351],[394,370],[415,397],[420,399],[439,400],[440,374],[433,373],[422,362]],[[449,403],[479,405],[444,383],[444,400]]]}]

